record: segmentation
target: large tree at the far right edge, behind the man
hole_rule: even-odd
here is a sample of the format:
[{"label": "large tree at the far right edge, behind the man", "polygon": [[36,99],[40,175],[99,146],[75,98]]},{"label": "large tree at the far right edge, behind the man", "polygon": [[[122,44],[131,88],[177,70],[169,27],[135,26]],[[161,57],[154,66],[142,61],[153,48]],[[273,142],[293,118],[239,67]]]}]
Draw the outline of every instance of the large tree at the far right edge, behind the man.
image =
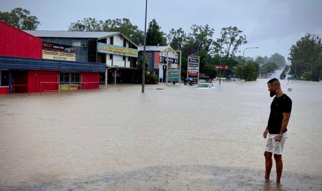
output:
[{"label": "large tree at the far right edge, behind the man", "polygon": [[[290,74],[295,74],[295,64],[296,76],[301,76],[302,72],[310,72],[312,65],[311,80],[319,80],[319,76],[322,75],[322,44],[318,35],[306,34],[292,45],[289,55],[288,60],[292,63]],[[307,75],[304,76],[307,77]]]}]

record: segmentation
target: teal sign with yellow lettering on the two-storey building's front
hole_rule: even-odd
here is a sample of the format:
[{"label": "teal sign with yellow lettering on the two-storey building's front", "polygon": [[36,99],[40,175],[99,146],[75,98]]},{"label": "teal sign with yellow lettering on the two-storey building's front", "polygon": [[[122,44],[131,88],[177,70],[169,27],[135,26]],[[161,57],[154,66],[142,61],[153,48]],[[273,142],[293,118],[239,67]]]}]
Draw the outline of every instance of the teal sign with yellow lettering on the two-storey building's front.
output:
[{"label": "teal sign with yellow lettering on the two-storey building's front", "polygon": [[137,57],[137,49],[109,45],[105,43],[97,43],[97,52],[105,54],[117,54],[123,56]]}]

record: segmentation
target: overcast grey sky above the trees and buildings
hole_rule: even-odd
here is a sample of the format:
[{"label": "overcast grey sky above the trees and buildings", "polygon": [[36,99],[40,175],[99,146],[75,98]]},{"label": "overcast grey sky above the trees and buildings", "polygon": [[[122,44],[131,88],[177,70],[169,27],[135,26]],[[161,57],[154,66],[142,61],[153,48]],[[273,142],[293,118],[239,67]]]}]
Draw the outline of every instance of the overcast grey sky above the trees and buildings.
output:
[{"label": "overcast grey sky above the trees and buildings", "polygon": [[[17,1],[1,0],[0,11],[10,12],[16,7],[27,9],[38,18],[38,30],[68,29],[71,22],[93,17],[97,20],[129,18],[144,30],[144,0],[122,1]],[[248,44],[239,48],[260,47],[245,51],[245,56],[270,56],[278,52],[287,58],[292,44],[306,33],[322,37],[322,1],[320,0],[148,0],[147,23],[152,19],[168,33],[172,28],[208,24],[219,37],[222,27],[236,26],[244,31]]]}]

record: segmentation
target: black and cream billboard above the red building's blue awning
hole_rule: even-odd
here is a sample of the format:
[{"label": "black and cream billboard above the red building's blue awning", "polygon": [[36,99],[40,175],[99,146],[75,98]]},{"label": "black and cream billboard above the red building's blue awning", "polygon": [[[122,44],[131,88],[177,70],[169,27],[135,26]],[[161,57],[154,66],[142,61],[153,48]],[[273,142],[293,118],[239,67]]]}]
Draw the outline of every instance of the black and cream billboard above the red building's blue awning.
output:
[{"label": "black and cream billboard above the red building's blue awning", "polygon": [[76,61],[75,47],[43,42],[42,58],[51,60]]}]

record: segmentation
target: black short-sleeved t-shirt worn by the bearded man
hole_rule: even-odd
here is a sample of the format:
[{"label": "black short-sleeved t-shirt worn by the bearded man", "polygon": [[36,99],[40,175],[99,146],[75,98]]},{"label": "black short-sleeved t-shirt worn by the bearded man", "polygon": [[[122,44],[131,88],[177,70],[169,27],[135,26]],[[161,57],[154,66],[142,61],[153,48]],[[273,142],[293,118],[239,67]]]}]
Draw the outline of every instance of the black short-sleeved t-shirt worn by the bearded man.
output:
[{"label": "black short-sleeved t-shirt worn by the bearded man", "polygon": [[[290,113],[292,110],[292,100],[286,94],[283,94],[280,97],[276,97],[273,99],[271,104],[271,113],[270,118],[268,119],[268,132],[270,134],[279,134],[282,121],[283,121],[283,113]],[[284,132],[286,132],[285,129]]]}]

